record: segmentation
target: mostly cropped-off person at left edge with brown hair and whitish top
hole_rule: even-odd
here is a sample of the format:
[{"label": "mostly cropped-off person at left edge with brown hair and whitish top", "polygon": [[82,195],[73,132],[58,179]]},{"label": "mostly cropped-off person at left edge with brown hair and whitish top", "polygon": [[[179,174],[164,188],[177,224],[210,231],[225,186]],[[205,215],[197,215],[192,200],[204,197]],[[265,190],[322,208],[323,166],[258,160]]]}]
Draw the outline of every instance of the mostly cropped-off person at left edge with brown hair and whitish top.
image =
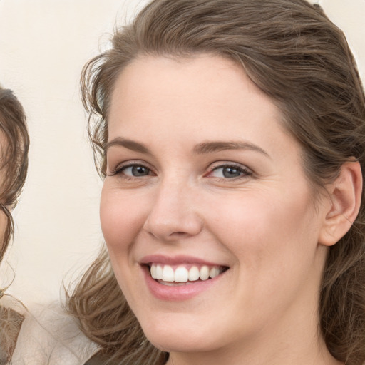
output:
[{"label": "mostly cropped-off person at left edge with brown hair and whitish top", "polygon": [[[14,233],[11,210],[26,179],[29,135],[24,110],[0,88],[0,260]],[[0,364],[81,365],[97,351],[58,305],[24,307],[0,288]]]}]

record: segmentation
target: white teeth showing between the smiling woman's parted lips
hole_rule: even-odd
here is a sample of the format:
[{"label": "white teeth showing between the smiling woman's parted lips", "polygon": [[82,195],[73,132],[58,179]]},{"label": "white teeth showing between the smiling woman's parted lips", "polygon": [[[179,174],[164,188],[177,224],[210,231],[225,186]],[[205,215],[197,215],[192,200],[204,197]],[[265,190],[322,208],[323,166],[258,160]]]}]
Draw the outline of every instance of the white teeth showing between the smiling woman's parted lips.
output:
[{"label": "white teeth showing between the smiling woman's parted lips", "polygon": [[158,283],[168,286],[194,284],[209,279],[214,279],[228,267],[208,265],[178,265],[151,263],[148,264],[150,275]]}]

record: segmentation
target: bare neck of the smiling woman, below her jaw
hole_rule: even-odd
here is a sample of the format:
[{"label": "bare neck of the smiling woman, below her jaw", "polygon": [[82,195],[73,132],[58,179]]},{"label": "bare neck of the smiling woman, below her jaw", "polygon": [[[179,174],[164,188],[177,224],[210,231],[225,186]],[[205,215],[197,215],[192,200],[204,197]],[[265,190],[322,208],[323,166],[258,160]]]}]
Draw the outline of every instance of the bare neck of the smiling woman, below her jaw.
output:
[{"label": "bare neck of the smiling woman, below her jaw", "polygon": [[[311,318],[309,321],[304,321]],[[288,316],[281,328],[272,321],[259,333],[214,351],[170,352],[167,365],[341,365],[329,353],[318,327],[317,315]]]}]

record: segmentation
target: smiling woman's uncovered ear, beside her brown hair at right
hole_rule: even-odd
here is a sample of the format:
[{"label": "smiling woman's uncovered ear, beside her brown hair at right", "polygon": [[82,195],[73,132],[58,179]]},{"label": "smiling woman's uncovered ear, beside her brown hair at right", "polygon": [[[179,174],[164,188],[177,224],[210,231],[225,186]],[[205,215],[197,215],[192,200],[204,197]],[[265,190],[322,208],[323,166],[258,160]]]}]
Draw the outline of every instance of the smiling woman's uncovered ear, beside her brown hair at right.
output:
[{"label": "smiling woman's uncovered ear, beside her brown hair at right", "polygon": [[319,244],[332,246],[344,237],[359,213],[362,174],[357,161],[344,163],[339,176],[329,185],[330,204],[324,225],[319,232]]}]

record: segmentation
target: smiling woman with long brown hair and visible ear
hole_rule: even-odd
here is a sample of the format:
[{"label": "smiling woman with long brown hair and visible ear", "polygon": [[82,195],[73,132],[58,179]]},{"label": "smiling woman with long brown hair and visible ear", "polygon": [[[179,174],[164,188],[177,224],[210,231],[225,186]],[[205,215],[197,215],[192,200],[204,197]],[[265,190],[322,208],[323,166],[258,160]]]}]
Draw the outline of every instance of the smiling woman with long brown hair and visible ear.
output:
[{"label": "smiling woman with long brown hair and visible ear", "polygon": [[[94,364],[362,364],[365,100],[304,0],[155,0],[83,71]],[[99,165],[98,165],[99,164]]]}]

